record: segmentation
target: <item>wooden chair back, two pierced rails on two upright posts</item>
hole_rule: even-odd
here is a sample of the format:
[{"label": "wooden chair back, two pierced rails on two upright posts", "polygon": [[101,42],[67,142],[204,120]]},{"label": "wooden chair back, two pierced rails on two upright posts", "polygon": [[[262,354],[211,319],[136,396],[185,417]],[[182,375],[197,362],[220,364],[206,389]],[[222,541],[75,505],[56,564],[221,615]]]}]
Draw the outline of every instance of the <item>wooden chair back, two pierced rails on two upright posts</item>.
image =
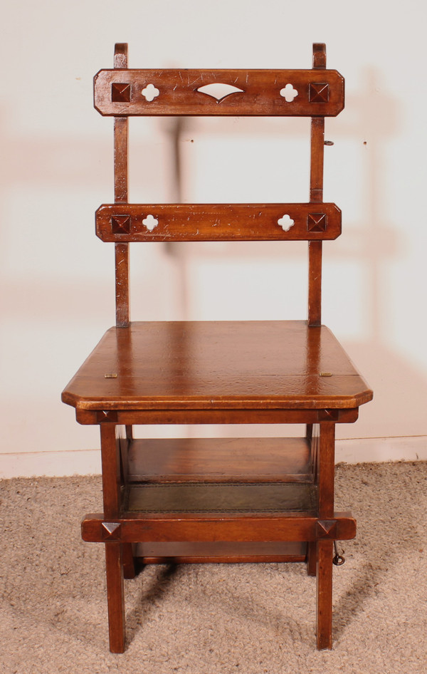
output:
[{"label": "wooden chair back, two pierced rails on two upright posts", "polygon": [[[96,212],[97,236],[115,243],[116,324],[130,322],[129,244],[165,241],[306,240],[308,323],[321,323],[322,241],[341,233],[341,211],[323,202],[325,117],[344,107],[344,80],[313,45],[310,70],[135,70],[127,45],[114,68],[95,76],[95,108],[114,117],[115,202]],[[293,116],[311,118],[310,201],[293,204],[129,204],[131,116]]]}]

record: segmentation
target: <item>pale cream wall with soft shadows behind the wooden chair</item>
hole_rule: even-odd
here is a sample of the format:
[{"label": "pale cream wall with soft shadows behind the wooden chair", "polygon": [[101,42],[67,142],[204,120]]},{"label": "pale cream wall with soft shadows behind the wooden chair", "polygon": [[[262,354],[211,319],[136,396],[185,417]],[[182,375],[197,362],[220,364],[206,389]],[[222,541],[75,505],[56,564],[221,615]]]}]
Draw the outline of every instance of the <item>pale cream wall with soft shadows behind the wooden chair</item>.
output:
[{"label": "pale cream wall with soft shadows behind the wooden chair", "polygon": [[[383,0],[69,6],[16,0],[2,11],[1,452],[98,444],[60,391],[114,321],[112,244],[93,233],[95,208],[112,199],[112,122],[92,108],[92,78],[112,65],[115,41],[147,68],[306,68],[312,42],[327,43],[347,107],[327,121],[325,200],[342,208],[344,234],[325,245],[323,319],[375,391],[339,437],[426,435],[425,4],[409,0],[399,16]],[[307,200],[306,130],[306,120],[184,122],[181,198]],[[131,131],[130,199],[176,199],[171,123],[135,120]],[[134,318],[305,317],[305,246],[134,248]]]}]

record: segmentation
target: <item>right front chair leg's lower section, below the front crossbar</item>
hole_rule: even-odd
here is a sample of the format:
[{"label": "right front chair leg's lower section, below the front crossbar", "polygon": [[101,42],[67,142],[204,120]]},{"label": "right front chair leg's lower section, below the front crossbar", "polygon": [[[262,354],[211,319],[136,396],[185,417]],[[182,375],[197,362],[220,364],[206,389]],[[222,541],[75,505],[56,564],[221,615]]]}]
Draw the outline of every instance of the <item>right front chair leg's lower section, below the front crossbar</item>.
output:
[{"label": "right front chair leg's lower section, below the front crossbar", "polygon": [[317,541],[317,648],[332,648],[332,555],[334,541]]}]

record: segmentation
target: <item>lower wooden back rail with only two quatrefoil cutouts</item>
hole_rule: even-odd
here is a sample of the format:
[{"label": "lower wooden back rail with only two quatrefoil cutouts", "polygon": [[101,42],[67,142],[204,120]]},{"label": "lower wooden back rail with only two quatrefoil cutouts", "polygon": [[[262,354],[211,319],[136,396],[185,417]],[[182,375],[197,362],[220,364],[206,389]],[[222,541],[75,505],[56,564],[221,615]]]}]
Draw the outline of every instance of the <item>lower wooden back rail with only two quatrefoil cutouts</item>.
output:
[{"label": "lower wooden back rail with only two quatrefoil cutouts", "polygon": [[[307,241],[341,234],[341,211],[330,203],[102,204],[95,220],[97,236],[107,242]],[[144,220],[157,224],[147,229]]]}]

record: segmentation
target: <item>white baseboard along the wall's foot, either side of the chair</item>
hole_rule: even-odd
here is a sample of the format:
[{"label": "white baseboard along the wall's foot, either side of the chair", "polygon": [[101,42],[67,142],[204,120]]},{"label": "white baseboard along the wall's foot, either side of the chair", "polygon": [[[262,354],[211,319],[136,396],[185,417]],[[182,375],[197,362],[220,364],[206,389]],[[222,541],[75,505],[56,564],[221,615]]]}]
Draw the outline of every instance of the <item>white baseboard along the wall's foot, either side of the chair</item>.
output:
[{"label": "white baseboard along the wall's foot, either side of the chair", "polygon": [[[427,460],[426,435],[337,440],[337,463],[416,460]],[[100,450],[0,454],[0,478],[100,475],[100,472]]]}]

